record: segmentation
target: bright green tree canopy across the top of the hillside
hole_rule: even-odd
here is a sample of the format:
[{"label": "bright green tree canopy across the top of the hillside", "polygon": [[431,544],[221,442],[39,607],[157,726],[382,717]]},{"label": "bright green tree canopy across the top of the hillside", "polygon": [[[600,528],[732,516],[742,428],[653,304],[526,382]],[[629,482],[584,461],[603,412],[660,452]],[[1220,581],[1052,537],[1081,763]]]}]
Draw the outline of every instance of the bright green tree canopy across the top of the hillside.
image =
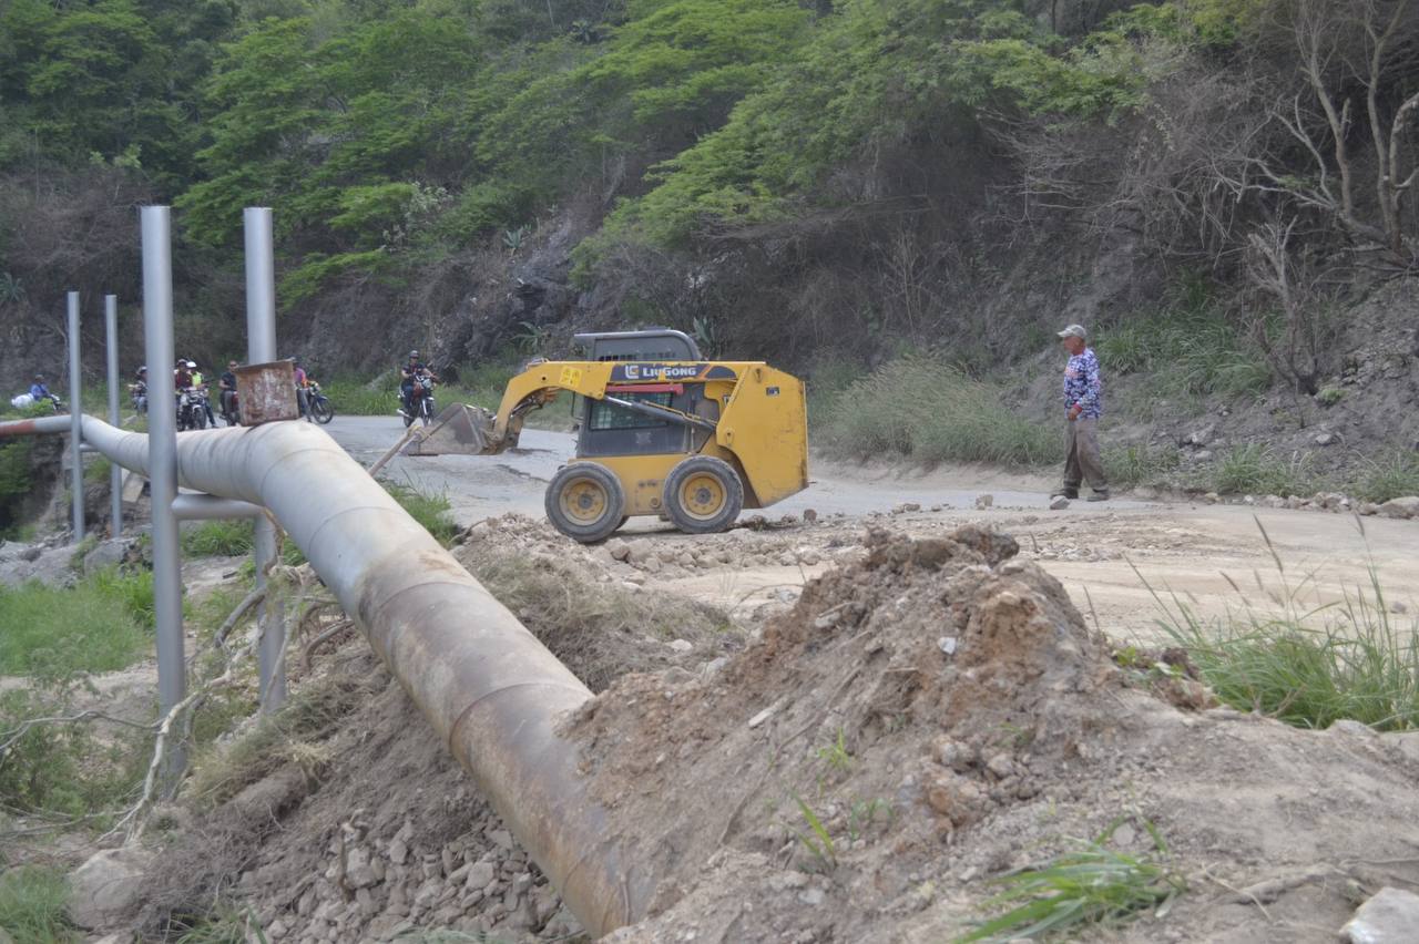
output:
[{"label": "bright green tree canopy across the top of the hillside", "polygon": [[590,266],[849,208],[880,186],[866,159],[929,153],[973,179],[998,118],[1122,130],[1172,77],[1264,57],[1290,26],[1267,0],[1066,4],[1067,21],[1027,0],[532,6],[14,0],[0,172],[126,172],[227,249],[243,206],[274,206],[289,305],[490,235],[515,251],[587,191],[622,197]]}]

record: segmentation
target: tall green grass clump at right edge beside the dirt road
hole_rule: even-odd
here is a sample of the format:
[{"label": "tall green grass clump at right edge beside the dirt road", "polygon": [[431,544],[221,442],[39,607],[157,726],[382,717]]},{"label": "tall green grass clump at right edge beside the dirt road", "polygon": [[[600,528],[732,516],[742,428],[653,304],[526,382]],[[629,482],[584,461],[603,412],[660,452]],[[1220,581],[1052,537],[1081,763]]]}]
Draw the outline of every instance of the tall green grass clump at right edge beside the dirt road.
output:
[{"label": "tall green grass clump at right edge beside the dirt road", "polygon": [[1232,707],[1297,727],[1351,719],[1382,731],[1419,729],[1419,619],[1401,625],[1391,614],[1374,566],[1368,588],[1307,605],[1308,578],[1293,583],[1261,534],[1281,578],[1274,612],[1243,605],[1240,614],[1203,619],[1176,595],[1165,600],[1148,587],[1159,625],[1208,687]]}]

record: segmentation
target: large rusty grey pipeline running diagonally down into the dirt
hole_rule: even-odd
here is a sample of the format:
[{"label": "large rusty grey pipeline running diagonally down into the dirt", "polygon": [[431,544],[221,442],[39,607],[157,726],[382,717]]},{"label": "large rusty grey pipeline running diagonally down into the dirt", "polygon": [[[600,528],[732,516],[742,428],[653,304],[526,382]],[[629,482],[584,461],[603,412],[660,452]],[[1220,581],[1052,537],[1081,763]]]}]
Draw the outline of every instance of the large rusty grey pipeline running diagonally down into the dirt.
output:
[{"label": "large rusty grey pipeline running diagonally down into the dirt", "polygon": [[[0,424],[0,437],[68,422]],[[109,459],[148,471],[146,435],[82,422]],[[177,475],[275,515],[587,931],[646,914],[654,877],[606,836],[555,730],[592,693],[329,435],[308,422],[184,432]]]}]

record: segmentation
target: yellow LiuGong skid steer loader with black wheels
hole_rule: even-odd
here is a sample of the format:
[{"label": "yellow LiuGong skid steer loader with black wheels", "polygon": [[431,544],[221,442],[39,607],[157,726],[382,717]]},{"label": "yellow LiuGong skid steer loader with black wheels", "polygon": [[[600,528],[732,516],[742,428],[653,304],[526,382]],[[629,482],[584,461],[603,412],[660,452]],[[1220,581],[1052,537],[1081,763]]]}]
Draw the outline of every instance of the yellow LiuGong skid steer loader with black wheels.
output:
[{"label": "yellow LiuGong skid steer loader with black wheels", "polygon": [[[563,391],[576,400],[576,456],[546,489],[546,516],[599,541],[633,515],[722,532],[745,507],[807,488],[803,383],[762,361],[707,361],[683,332],[578,335],[590,360],[541,360],[508,381],[498,412],[464,407],[458,452],[518,444],[522,421]],[[438,434],[434,434],[438,435]]]}]

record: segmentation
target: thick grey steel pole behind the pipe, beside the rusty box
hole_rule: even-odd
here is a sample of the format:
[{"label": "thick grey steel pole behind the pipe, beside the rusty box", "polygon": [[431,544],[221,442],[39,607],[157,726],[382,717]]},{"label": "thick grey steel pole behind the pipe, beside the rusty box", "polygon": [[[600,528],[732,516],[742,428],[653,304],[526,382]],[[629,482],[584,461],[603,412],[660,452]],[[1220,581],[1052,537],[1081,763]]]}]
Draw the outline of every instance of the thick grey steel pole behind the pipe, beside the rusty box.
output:
[{"label": "thick grey steel pole behind the pipe, beside the rusty box", "polygon": [[[271,208],[247,207],[247,363],[275,360],[275,249],[271,237]],[[267,568],[275,563],[275,524],[261,516],[255,520],[253,554],[257,587],[264,587]],[[260,621],[260,697],[261,710],[274,712],[285,703],[285,614],[278,600],[267,598]]]}]

